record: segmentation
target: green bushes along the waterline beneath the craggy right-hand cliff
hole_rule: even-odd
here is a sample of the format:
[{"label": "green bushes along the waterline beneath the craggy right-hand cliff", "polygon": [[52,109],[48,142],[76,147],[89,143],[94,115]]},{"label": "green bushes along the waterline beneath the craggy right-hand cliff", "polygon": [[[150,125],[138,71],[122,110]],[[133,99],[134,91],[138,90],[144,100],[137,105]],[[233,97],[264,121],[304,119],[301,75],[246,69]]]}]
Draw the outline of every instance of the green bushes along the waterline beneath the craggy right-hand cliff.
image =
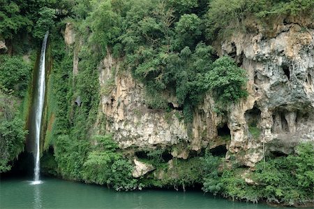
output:
[{"label": "green bushes along the waterline beneath the craggy right-hand cliff", "polygon": [[243,168],[219,172],[218,158],[206,154],[202,189],[232,199],[253,202],[267,199],[290,206],[302,205],[313,199],[313,160],[313,145],[301,143],[295,154],[257,164],[256,171],[250,176],[257,184],[248,185],[243,178]]}]

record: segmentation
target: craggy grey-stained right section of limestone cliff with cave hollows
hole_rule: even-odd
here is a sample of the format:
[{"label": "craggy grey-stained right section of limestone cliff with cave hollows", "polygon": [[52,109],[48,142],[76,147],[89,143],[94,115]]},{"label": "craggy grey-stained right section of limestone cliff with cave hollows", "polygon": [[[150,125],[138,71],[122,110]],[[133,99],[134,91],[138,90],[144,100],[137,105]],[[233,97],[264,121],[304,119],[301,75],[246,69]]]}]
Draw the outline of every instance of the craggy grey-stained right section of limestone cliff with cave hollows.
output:
[{"label": "craggy grey-stained right section of limestone cliff with cave hollows", "polygon": [[[229,153],[254,166],[263,152],[289,154],[302,140],[314,139],[314,30],[281,24],[274,38],[234,34],[219,48],[248,73],[250,96],[228,115]],[[250,127],[260,129],[253,138]]]}]

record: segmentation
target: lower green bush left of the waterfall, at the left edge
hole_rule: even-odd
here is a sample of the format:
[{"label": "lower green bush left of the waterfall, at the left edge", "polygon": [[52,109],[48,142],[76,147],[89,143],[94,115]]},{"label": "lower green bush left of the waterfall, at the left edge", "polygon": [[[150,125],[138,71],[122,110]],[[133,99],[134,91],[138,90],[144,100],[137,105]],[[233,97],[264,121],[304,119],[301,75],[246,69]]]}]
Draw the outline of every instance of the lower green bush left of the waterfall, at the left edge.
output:
[{"label": "lower green bush left of the waterfall, at the left edge", "polygon": [[16,108],[15,97],[0,91],[0,173],[10,170],[9,161],[24,150],[27,131]]}]

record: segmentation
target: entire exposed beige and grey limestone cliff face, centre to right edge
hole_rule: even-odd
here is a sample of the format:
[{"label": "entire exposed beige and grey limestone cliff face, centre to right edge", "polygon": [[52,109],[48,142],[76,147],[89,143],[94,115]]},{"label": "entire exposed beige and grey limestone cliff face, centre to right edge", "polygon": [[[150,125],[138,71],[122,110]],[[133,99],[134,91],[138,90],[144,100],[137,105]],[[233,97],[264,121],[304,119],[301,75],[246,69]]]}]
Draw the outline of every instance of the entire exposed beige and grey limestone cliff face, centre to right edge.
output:
[{"label": "entire exposed beige and grey limestone cliff face, centre to right edge", "polygon": [[170,112],[149,108],[143,85],[108,52],[99,67],[105,130],[121,148],[179,146],[171,154],[183,159],[223,146],[226,159],[250,167],[267,152],[289,154],[300,141],[314,141],[314,29],[295,22],[275,28],[274,36],[257,29],[216,43],[219,56],[233,57],[248,73],[249,96],[219,115],[207,94],[190,125],[177,117],[174,96]]}]

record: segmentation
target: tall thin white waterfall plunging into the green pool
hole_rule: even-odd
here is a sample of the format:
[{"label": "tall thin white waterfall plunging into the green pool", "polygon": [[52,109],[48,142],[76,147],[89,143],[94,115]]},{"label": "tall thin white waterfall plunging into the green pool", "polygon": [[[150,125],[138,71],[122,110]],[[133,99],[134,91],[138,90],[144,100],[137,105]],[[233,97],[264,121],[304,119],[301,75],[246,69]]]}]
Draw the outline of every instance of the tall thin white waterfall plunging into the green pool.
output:
[{"label": "tall thin white waterfall plunging into the green pool", "polygon": [[38,83],[36,92],[36,102],[34,103],[35,108],[35,121],[33,121],[34,131],[35,131],[35,147],[34,147],[34,162],[35,167],[33,168],[34,182],[33,184],[40,183],[40,127],[41,119],[43,117],[43,104],[45,100],[45,52],[49,32],[45,34],[43,39],[43,45],[41,47],[40,61],[38,65]]}]

